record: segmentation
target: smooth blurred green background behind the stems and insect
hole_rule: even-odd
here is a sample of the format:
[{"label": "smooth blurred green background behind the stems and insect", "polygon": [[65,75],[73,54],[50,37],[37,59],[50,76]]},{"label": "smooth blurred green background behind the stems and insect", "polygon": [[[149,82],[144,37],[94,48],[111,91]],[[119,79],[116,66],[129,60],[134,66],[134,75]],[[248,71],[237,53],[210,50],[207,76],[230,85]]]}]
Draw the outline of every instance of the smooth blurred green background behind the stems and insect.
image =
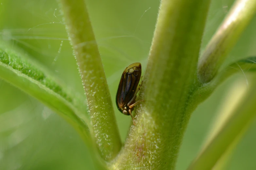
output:
[{"label": "smooth blurred green background behind the stems and insect", "polygon": [[[99,44],[112,100],[124,68],[141,62],[145,69],[159,10],[156,0],[86,0]],[[202,49],[221,23],[233,0],[211,4]],[[182,22],[182,21],[180,21]],[[245,30],[225,64],[256,54],[256,17]],[[2,0],[0,38],[26,51],[62,79],[68,89],[83,94],[75,58],[54,0]],[[244,77],[242,71],[238,76]],[[177,163],[184,170],[196,156],[236,79],[232,77],[192,114]],[[121,114],[113,102],[122,141],[131,118]],[[239,143],[227,169],[256,169],[256,123]],[[0,80],[0,169],[84,170],[94,169],[86,146],[76,131],[34,98]]]}]

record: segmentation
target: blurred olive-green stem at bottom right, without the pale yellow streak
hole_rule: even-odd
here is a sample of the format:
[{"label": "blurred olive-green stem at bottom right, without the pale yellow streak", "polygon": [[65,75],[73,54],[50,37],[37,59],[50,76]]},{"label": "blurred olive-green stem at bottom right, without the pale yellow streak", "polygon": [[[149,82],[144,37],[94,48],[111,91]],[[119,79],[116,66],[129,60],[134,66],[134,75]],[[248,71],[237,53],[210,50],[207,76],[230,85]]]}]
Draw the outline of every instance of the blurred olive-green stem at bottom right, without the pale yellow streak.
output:
[{"label": "blurred olive-green stem at bottom right, without the pale yellow streak", "polygon": [[189,170],[211,170],[217,161],[229,151],[234,142],[236,143],[238,138],[241,138],[242,134],[246,132],[256,116],[255,76],[252,81],[249,83],[242,102],[232,109],[226,122],[190,165]]}]

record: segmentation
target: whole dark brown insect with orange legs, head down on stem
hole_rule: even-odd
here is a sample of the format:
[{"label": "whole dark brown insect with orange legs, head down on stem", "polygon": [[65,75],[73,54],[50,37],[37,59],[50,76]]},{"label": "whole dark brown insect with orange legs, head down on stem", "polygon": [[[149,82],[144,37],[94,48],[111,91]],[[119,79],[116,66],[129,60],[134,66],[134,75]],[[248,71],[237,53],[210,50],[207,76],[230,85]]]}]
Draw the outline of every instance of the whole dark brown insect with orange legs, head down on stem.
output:
[{"label": "whole dark brown insect with orange legs, head down on stem", "polygon": [[141,85],[141,64],[133,63],[124,70],[116,93],[116,106],[124,115],[131,115],[134,123],[134,117],[131,112],[138,102],[135,102],[136,94],[139,92]]}]

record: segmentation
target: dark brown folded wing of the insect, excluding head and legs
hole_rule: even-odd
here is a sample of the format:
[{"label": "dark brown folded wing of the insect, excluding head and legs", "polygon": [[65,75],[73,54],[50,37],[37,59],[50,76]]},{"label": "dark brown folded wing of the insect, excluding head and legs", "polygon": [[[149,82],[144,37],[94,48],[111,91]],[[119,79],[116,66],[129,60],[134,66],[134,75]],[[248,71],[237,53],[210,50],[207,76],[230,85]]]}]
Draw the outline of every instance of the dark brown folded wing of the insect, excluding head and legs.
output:
[{"label": "dark brown folded wing of the insect, excluding head and legs", "polygon": [[141,64],[133,63],[123,72],[116,93],[116,105],[122,112],[123,106],[133,98],[141,78]]}]

